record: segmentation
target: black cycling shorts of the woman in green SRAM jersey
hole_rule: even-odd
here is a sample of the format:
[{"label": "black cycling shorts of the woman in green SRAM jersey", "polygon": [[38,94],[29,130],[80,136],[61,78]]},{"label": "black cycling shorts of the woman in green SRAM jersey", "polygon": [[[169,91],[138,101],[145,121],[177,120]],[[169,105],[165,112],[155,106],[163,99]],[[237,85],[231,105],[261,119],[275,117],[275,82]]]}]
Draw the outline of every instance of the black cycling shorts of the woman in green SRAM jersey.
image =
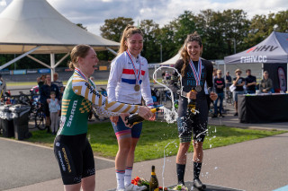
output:
[{"label": "black cycling shorts of the woman in green SRAM jersey", "polygon": [[64,185],[74,185],[95,174],[94,155],[86,134],[58,135],[54,141]]}]

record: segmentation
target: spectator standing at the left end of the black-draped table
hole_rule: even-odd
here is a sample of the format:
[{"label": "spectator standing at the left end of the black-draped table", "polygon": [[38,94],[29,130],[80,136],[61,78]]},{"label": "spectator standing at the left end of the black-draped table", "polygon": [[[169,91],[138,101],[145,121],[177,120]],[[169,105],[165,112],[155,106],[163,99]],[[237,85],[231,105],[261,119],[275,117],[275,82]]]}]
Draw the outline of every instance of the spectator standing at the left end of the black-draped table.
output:
[{"label": "spectator standing at the left end of the black-draped table", "polygon": [[234,116],[238,116],[238,95],[244,94],[244,84],[245,79],[241,77],[242,71],[240,69],[237,69],[235,71],[236,77],[233,78],[233,85],[235,85],[236,89],[233,91],[233,100],[234,100],[234,106],[236,113]]}]

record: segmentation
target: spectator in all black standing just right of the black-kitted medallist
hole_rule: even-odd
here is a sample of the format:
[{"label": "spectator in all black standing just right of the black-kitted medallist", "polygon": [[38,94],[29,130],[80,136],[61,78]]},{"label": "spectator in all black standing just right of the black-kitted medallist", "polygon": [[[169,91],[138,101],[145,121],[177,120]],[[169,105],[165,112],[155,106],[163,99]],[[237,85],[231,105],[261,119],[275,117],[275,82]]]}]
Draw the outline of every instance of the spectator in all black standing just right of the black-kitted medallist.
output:
[{"label": "spectator in all black standing just right of the black-kitted medallist", "polygon": [[217,77],[214,79],[214,88],[216,90],[216,93],[218,95],[218,98],[214,102],[214,115],[212,117],[218,116],[218,100],[220,100],[219,103],[219,117],[222,116],[222,109],[223,109],[223,98],[224,98],[224,88],[225,88],[225,81],[224,78],[222,78],[222,71],[217,70]]}]

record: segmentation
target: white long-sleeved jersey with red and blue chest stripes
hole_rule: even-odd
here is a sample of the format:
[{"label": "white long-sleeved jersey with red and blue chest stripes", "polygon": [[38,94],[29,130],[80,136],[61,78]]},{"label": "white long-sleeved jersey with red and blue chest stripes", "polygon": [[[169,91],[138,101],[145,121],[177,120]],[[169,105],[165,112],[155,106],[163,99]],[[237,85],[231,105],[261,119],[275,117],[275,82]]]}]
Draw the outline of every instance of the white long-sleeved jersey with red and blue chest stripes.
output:
[{"label": "white long-sleeved jersey with red and blue chest stripes", "polygon": [[[141,70],[139,78],[140,91],[134,90],[136,76],[130,57],[137,70],[136,73],[139,74],[139,68]],[[142,96],[147,106],[153,106],[148,76],[148,62],[146,58],[142,56],[130,57],[125,51],[112,60],[107,86],[108,100],[140,104]]]}]

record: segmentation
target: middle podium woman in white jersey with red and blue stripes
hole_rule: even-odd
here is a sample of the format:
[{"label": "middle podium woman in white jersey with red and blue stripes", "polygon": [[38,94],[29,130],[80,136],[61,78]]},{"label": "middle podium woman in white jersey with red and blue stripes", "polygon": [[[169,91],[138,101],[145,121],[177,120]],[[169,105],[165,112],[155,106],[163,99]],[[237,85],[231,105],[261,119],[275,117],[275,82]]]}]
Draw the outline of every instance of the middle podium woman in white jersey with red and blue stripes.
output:
[{"label": "middle podium woman in white jersey with red and blue stripes", "polygon": [[[148,62],[140,56],[143,48],[143,33],[138,28],[128,25],[122,33],[118,56],[112,60],[107,85],[109,100],[122,103],[141,104],[141,97],[148,107],[153,108]],[[117,137],[119,150],[115,158],[117,190],[142,190],[131,184],[134,151],[141,134],[142,123],[132,128],[125,126],[121,117],[110,117]],[[151,117],[150,120],[154,120]]]}]

